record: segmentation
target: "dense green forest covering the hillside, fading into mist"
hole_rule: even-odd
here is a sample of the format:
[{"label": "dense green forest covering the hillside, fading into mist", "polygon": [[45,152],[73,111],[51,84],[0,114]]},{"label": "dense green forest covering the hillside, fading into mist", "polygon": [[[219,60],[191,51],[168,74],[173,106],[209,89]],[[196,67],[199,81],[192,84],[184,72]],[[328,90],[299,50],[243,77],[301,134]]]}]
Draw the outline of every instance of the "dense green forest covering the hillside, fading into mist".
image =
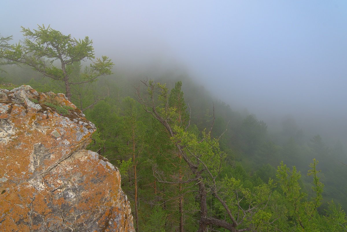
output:
[{"label": "dense green forest covering the hillside, fading into mist", "polygon": [[88,54],[94,59],[92,47],[77,50],[80,57],[61,61],[64,67],[47,52],[36,60],[8,52],[1,87],[67,93],[98,128],[87,149],[119,168],[136,231],[347,231],[340,142],[328,146],[290,117],[269,131],[180,69],[129,72],[107,57],[84,63]]}]

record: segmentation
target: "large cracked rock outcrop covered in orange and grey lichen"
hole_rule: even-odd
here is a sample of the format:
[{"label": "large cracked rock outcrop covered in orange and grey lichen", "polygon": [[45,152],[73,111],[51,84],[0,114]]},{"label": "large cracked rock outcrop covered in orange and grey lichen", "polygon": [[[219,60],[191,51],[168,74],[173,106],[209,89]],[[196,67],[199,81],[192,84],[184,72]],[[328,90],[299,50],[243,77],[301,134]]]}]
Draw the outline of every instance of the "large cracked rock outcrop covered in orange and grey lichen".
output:
[{"label": "large cracked rock outcrop covered in orange and grey lichen", "polygon": [[0,90],[0,231],[134,231],[118,169],[64,94]]}]

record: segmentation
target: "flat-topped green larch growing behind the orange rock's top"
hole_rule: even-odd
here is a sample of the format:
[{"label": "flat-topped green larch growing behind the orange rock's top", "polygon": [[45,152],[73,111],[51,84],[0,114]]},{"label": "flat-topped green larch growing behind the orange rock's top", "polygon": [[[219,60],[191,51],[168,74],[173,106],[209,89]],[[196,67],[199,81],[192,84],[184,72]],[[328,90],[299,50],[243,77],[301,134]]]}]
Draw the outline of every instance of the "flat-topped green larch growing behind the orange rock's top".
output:
[{"label": "flat-topped green larch growing behind the orange rock's top", "polygon": [[[70,85],[97,80],[98,77],[112,74],[113,63],[107,56],[94,56],[93,41],[86,36],[83,40],[64,35],[50,26],[38,25],[37,30],[22,27],[25,36],[23,44],[13,44],[0,50],[0,58],[6,64],[26,64],[53,80],[64,82],[66,97],[71,100]],[[8,42],[8,38],[5,38]],[[83,80],[72,82],[68,66],[74,62],[91,60],[89,72]],[[54,65],[58,61],[59,67]]]}]

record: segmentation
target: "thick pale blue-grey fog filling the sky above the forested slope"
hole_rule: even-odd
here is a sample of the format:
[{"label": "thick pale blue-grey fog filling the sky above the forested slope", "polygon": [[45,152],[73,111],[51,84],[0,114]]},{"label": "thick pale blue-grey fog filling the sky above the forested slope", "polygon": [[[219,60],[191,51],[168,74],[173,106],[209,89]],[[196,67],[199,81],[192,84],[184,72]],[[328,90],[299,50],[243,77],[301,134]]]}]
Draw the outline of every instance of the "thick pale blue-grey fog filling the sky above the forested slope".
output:
[{"label": "thick pale blue-grey fog filling the sky above the forested slope", "polygon": [[89,36],[116,71],[181,67],[268,124],[291,115],[347,140],[346,1],[5,1],[0,21],[14,42],[50,24]]}]

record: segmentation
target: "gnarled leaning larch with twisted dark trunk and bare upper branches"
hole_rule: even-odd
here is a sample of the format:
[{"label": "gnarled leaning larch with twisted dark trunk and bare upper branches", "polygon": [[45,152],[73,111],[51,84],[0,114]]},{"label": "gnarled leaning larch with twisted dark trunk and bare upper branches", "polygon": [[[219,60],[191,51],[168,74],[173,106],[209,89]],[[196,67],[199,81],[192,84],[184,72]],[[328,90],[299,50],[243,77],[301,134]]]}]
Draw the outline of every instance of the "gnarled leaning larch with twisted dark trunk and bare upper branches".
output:
[{"label": "gnarled leaning larch with twisted dark trunk and bare upper branches", "polygon": [[[165,84],[151,80],[142,83],[147,88],[148,98],[141,94],[140,88],[137,88],[138,101],[147,113],[165,127],[188,170],[178,183],[191,183],[192,191],[197,194],[196,200],[200,205],[197,231],[205,232],[208,226],[222,227],[231,232],[251,231],[253,227],[259,227],[268,222],[272,215],[264,212],[263,209],[267,207],[270,200],[271,180],[269,184],[256,188],[255,192],[250,192],[240,183],[236,186],[237,181],[233,178],[225,177],[220,180],[219,175],[225,163],[226,154],[220,150],[218,139],[211,136],[214,116],[211,129],[204,130],[202,138],[199,138],[187,130],[189,121],[187,125],[184,125],[177,120],[180,118],[177,115],[178,110],[177,107],[170,106],[172,100],[169,100],[169,90]],[[174,95],[177,96],[176,93]],[[221,189],[226,191],[220,192]],[[236,194],[233,194],[230,201],[229,199],[226,201],[231,192]],[[224,218],[212,215],[207,204],[208,197],[213,198],[220,210],[225,212]],[[247,204],[246,207],[245,204]],[[254,221],[254,217],[259,220]]]}]

